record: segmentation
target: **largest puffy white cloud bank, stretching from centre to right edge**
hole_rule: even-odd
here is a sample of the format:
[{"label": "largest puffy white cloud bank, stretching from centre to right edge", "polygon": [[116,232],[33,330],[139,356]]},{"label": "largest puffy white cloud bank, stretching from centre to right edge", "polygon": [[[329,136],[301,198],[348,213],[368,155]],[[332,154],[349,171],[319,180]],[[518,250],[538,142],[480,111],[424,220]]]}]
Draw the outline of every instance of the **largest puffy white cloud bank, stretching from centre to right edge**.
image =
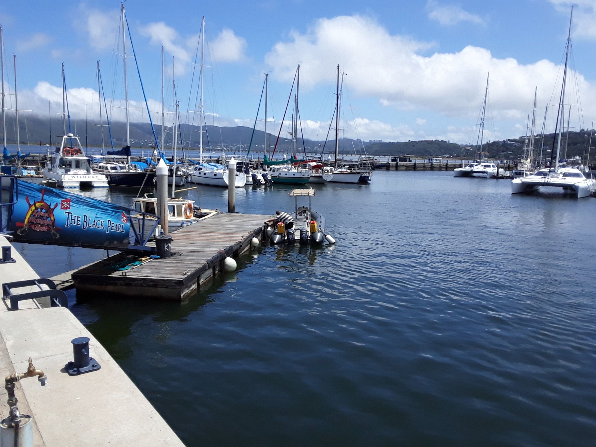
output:
[{"label": "largest puffy white cloud bank, stretching from centre to right edge", "polygon": [[[300,61],[300,86],[327,85],[335,65],[349,73],[352,92],[401,110],[424,110],[474,120],[490,72],[490,111],[495,120],[520,119],[538,86],[538,104],[550,102],[560,67],[548,60],[520,64],[495,58],[485,48],[466,46],[454,53],[423,55],[424,42],[390,35],[375,20],[360,15],[322,18],[305,32],[293,31],[266,55],[272,76],[291,82]],[[579,73],[584,116],[596,114],[596,86]],[[558,79],[560,82],[560,78]],[[569,88],[569,85],[568,85]]]}]

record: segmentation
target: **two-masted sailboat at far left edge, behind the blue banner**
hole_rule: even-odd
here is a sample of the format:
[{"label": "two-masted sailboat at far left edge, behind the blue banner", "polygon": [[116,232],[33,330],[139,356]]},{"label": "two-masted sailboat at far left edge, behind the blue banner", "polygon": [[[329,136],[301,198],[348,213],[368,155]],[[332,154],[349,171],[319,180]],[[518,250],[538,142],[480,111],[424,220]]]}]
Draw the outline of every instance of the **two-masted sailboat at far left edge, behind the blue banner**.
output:
[{"label": "two-masted sailboat at far left edge, behind the blue banner", "polygon": [[[16,178],[32,182],[36,184],[41,184],[44,180],[44,176],[40,175],[35,169],[31,169],[30,167],[23,166],[21,164],[21,160],[25,159],[29,156],[29,154],[22,155],[21,154],[21,141],[18,129],[18,102],[17,102],[17,56],[14,55],[14,113],[16,119],[16,137],[17,137],[17,153],[11,155],[8,152],[7,144],[6,144],[6,112],[5,112],[5,91],[4,91],[4,30],[2,26],[0,26],[0,57],[2,58],[1,62],[1,78],[2,78],[2,135],[4,136],[4,145],[2,146],[2,160],[4,164],[0,166],[0,173],[5,175],[14,175]],[[9,160],[15,159],[15,164],[7,164]]]}]

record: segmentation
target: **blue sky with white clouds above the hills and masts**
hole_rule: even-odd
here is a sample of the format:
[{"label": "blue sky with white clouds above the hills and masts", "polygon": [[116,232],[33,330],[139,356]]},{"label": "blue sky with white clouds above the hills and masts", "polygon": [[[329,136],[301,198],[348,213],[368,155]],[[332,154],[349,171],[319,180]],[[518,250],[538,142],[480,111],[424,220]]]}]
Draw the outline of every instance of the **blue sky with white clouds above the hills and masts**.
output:
[{"label": "blue sky with white clouds above the hills and masts", "polygon": [[[485,140],[526,134],[535,88],[536,132],[542,129],[547,104],[545,130],[552,132],[572,4],[577,6],[564,102],[566,114],[571,106],[570,129],[588,129],[596,117],[596,0],[128,0],[131,122],[148,121],[132,39],[151,119],[162,120],[164,46],[166,125],[172,123],[175,108],[172,73],[181,121],[198,124],[199,114],[189,111],[199,110],[198,36],[204,16],[207,124],[252,127],[264,74],[269,73],[268,131],[281,129],[281,136],[288,136],[293,98],[281,123],[300,64],[302,134],[325,139],[339,64],[345,73],[342,136],[475,143],[487,75]],[[64,63],[73,122],[81,123],[86,114],[89,122],[98,123],[100,61],[110,119],[125,119],[119,2],[2,2],[0,24],[5,89],[10,93],[6,108],[14,108],[15,54],[18,108],[30,110],[21,113],[23,119],[51,113],[52,129],[60,125]],[[264,100],[256,126],[264,126]]]}]

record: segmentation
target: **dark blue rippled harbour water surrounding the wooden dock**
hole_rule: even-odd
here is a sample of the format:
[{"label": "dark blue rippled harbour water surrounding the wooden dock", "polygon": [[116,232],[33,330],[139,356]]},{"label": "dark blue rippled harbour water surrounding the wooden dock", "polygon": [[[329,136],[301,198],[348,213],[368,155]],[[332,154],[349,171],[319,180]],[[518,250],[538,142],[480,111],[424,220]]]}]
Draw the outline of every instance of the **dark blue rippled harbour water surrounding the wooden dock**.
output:
[{"label": "dark blue rippled harbour water surrounding the wooden dock", "polygon": [[[73,294],[187,445],[595,445],[593,198],[451,172],[316,188],[335,246],[262,247],[182,304]],[[289,189],[237,210],[289,210]],[[41,275],[103,256],[21,251]]]}]

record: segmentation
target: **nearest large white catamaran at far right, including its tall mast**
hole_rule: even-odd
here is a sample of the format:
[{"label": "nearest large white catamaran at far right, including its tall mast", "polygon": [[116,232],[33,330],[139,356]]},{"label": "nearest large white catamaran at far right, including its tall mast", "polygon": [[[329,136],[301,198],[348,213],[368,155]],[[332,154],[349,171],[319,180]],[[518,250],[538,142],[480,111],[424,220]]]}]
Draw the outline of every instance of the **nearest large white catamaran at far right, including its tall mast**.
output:
[{"label": "nearest large white catamaran at far right, including its tall mast", "polygon": [[[573,191],[577,198],[588,197],[596,190],[596,179],[588,179],[577,167],[566,166],[561,160],[561,139],[563,139],[563,113],[565,105],[565,89],[567,83],[567,66],[569,63],[569,52],[571,48],[571,27],[573,21],[573,7],[571,8],[571,17],[569,18],[569,34],[567,35],[567,45],[565,49],[565,66],[563,69],[563,84],[561,85],[561,96],[557,110],[557,122],[555,122],[555,132],[553,139],[557,138],[557,150],[551,153],[551,165],[541,169],[532,175],[516,178],[511,181],[511,194],[529,193],[536,191],[540,187],[558,187],[567,191]],[[569,127],[569,125],[567,126]],[[553,141],[554,148],[554,141]],[[554,166],[553,166],[554,164]]]}]

